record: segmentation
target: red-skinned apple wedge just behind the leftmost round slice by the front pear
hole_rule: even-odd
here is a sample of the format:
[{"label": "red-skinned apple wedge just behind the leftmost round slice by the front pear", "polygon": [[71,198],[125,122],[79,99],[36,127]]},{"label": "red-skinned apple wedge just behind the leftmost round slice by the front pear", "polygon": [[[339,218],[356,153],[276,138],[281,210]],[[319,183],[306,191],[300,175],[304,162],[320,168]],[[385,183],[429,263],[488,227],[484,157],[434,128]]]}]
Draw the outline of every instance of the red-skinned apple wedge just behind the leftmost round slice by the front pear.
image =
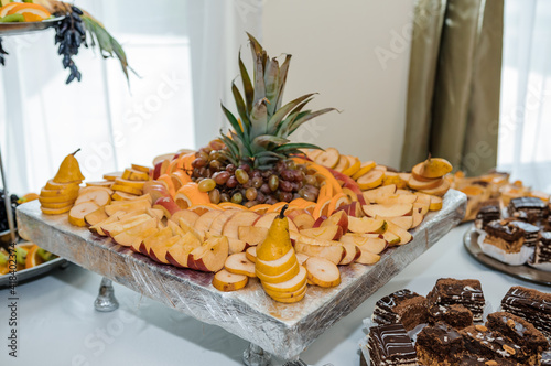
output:
[{"label": "red-skinned apple wedge just behind the leftmost round slice by the front pear", "polygon": [[228,258],[229,244],[225,236],[212,237],[187,257],[187,267],[204,272],[217,272]]}]

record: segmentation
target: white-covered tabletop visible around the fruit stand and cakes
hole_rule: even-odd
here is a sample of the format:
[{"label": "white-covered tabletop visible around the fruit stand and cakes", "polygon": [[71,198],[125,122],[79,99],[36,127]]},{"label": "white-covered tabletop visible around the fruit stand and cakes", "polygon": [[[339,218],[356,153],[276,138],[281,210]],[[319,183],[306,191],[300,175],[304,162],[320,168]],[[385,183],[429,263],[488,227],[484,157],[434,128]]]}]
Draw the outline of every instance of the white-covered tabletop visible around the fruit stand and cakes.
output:
[{"label": "white-covered tabletop visible around the fruit stand and cakes", "polygon": [[[463,248],[463,225],[440,240],[361,306],[320,336],[301,356],[310,365],[359,365],[361,320],[375,302],[402,288],[426,294],[437,278],[476,278],[494,310],[515,284],[532,284],[494,272]],[[18,358],[8,356],[8,290],[0,291],[0,365],[242,365],[248,342],[115,284],[119,310],[98,313],[94,300],[101,278],[69,266],[17,288]],[[273,365],[281,362],[273,360]]]}]

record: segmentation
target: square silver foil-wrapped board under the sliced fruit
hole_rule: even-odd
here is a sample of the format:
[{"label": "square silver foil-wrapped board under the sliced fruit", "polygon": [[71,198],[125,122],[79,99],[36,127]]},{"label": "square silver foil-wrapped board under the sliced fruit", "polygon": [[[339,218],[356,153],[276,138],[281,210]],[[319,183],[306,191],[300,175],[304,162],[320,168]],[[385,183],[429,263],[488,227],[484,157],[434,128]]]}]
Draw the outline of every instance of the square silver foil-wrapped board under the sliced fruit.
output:
[{"label": "square silver foil-wrapped board under the sliced fruit", "polygon": [[387,250],[375,266],[344,266],[338,287],[309,287],[304,300],[294,304],[274,302],[256,279],[244,290],[220,292],[210,284],[212,273],[156,263],[87,228],[71,226],[67,215],[43,215],[39,202],[18,207],[18,227],[23,237],[40,241],[60,257],[202,322],[222,326],[278,357],[294,359],[456,226],[465,207],[465,194],[449,191],[443,208],[425,217],[412,232],[411,243]]}]

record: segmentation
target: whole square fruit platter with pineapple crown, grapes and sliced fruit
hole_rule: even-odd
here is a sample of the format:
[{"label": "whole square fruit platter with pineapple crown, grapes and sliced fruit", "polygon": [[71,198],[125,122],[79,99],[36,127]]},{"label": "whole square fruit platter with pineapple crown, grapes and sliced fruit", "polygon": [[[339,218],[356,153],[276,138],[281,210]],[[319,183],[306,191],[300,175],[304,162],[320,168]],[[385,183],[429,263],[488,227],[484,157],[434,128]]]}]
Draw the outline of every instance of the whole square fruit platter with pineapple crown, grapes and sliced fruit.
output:
[{"label": "whole square fruit platter with pineapple crown, grapes and sliced fruit", "polygon": [[[161,154],[87,182],[68,154],[37,201],[18,207],[20,235],[53,254],[266,352],[296,358],[324,330],[422,255],[465,214],[452,165],[409,173],[291,142],[313,94],[282,104],[279,65],[249,35],[239,56],[239,117],[208,146]],[[85,185],[83,185],[83,182]]]}]

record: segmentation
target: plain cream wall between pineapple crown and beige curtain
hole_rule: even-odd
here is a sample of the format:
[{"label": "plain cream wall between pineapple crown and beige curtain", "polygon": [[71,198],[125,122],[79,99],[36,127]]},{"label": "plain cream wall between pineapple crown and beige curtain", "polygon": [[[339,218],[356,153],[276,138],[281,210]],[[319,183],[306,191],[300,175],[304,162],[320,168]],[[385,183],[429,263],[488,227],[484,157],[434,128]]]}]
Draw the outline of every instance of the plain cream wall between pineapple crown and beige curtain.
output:
[{"label": "plain cream wall between pineapple crown and beige curtain", "polygon": [[[399,166],[413,2],[264,2],[264,49],[271,56],[293,55],[285,100],[318,92],[313,108],[343,110],[318,118],[295,139]],[[391,58],[381,63],[376,50]]]}]

